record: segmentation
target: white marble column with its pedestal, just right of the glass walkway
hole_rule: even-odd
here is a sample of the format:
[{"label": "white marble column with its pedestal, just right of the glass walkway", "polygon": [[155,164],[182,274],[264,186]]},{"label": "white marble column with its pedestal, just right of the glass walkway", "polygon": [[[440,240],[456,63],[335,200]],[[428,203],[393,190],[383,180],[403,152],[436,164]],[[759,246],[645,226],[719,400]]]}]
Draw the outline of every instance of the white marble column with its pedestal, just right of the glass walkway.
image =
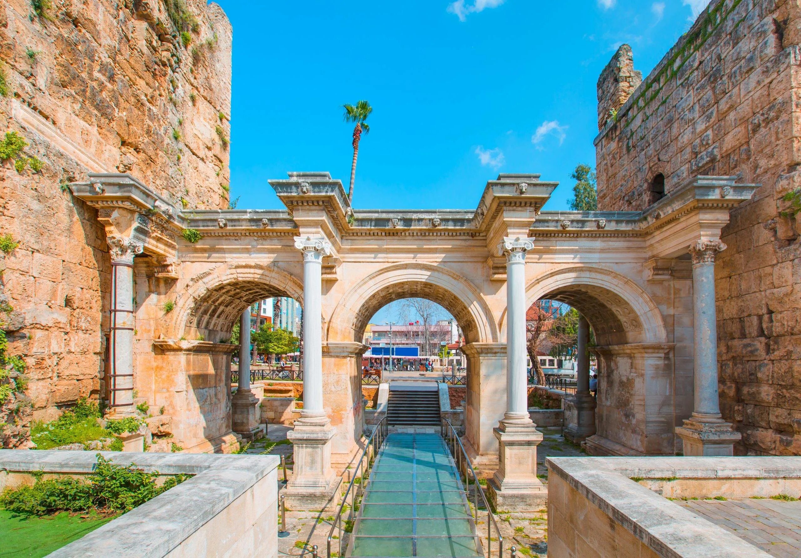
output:
[{"label": "white marble column with its pedestal, just right of the glass walkway", "polygon": [[525,253],[533,239],[506,237],[499,247],[506,255],[506,412],[498,428],[498,469],[489,481],[497,509],[534,512],[545,504],[547,491],[537,479],[537,445],[542,434],[529,417],[525,371]]}]

